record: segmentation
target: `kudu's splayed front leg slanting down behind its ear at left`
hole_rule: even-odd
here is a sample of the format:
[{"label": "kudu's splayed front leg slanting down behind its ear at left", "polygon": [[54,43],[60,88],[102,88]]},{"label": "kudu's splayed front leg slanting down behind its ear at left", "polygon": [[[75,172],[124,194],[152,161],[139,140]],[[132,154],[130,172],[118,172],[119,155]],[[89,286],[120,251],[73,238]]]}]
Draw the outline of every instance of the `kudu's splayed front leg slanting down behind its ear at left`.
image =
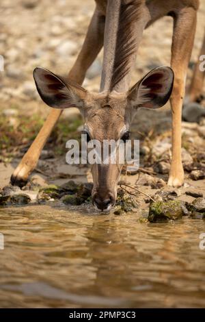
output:
[{"label": "kudu's splayed front leg slanting down behind its ear at left", "polygon": [[[105,16],[102,16],[98,10],[95,10],[92,16],[92,21],[87,31],[83,47],[77,61],[74,63],[68,77],[73,79],[75,82],[82,84],[85,78],[85,73],[90,67],[92,62],[94,62],[96,56],[98,55],[100,49],[103,45],[105,27]],[[33,171],[38,163],[40,153],[49,138],[53,127],[57,123],[62,110],[51,110],[49,116],[47,117],[42,129],[36,136],[36,139],[31,144],[31,147],[23,156],[23,159],[18,164],[17,168],[11,177],[11,183],[16,186],[24,186],[27,182],[29,174]]]}]

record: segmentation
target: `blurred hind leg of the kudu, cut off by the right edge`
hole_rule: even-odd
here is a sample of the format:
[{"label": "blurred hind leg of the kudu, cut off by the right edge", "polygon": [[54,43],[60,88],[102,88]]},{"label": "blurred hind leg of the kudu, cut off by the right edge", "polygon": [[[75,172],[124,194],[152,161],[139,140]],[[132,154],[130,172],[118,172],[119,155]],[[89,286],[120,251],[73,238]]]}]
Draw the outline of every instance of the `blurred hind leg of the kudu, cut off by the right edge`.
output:
[{"label": "blurred hind leg of the kudu, cut off by the right edge", "polygon": [[197,101],[197,99],[200,99],[202,96],[205,71],[200,70],[200,64],[202,64],[202,61],[200,60],[201,55],[205,55],[205,33],[204,33],[204,42],[202,45],[202,49],[200,51],[200,56],[197,60],[197,63],[195,64],[193,78],[191,80],[191,86],[189,89],[190,101]]}]

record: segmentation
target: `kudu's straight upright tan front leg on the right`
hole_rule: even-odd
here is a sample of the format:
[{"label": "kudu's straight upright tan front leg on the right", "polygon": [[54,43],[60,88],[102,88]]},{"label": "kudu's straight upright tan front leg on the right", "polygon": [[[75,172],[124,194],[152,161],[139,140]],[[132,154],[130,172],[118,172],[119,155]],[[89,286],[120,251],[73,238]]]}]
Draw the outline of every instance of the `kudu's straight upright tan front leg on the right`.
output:
[{"label": "kudu's straight upright tan front leg on the right", "polygon": [[175,73],[171,96],[172,107],[172,164],[169,172],[169,186],[182,186],[184,170],[181,157],[181,118],[185,79],[195,36],[196,10],[183,8],[174,18],[172,41],[172,69]]}]

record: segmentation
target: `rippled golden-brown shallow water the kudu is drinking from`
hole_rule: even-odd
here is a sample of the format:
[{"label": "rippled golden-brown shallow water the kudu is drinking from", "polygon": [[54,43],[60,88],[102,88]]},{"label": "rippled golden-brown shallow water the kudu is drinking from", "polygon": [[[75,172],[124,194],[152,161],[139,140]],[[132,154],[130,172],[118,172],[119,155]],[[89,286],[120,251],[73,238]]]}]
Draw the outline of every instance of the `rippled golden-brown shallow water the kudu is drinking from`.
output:
[{"label": "rippled golden-brown shallow water the kudu is drinking from", "polygon": [[74,209],[0,209],[1,307],[205,307],[205,221]]}]

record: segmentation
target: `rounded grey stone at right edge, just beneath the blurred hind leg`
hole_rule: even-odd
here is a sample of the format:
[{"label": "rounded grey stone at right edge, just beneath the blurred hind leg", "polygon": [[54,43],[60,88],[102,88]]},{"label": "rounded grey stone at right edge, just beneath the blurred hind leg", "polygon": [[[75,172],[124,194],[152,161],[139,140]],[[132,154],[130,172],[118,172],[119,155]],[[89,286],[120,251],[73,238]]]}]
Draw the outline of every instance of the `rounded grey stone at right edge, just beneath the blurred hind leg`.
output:
[{"label": "rounded grey stone at right edge, just beneath the blurred hind leg", "polygon": [[182,119],[187,122],[200,123],[200,119],[205,117],[205,108],[198,103],[184,104]]}]

